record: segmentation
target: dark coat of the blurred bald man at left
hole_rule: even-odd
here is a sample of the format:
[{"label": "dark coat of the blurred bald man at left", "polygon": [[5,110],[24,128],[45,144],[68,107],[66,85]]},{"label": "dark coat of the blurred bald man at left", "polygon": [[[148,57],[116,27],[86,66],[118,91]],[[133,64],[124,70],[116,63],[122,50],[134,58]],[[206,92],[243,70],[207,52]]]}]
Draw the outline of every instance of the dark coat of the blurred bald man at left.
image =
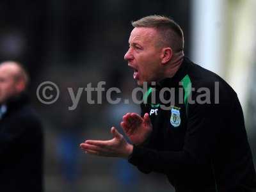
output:
[{"label": "dark coat of the blurred bald man at left", "polygon": [[1,106],[0,191],[43,191],[43,134],[26,94]]}]

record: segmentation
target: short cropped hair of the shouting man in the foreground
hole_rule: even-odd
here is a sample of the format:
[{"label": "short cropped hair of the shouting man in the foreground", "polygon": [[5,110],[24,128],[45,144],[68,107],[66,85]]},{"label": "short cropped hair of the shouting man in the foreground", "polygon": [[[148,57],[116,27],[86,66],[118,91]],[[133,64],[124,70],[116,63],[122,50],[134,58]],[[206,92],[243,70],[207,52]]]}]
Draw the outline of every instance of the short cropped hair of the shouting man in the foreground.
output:
[{"label": "short cropped hair of the shouting man in the foreground", "polygon": [[174,20],[161,15],[149,15],[131,23],[134,28],[155,28],[159,32],[160,45],[171,47],[175,52],[183,51],[183,31]]}]

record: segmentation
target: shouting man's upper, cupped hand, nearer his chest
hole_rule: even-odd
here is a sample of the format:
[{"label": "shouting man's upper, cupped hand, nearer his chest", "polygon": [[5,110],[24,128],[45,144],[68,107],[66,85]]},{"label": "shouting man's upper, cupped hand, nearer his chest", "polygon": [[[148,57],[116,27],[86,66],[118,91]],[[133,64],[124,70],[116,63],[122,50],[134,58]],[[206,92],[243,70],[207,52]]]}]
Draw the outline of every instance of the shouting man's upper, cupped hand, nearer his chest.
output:
[{"label": "shouting man's upper, cupped hand, nearer his chest", "polygon": [[143,118],[137,113],[127,113],[123,116],[120,125],[134,145],[143,143],[152,132],[152,124],[148,113],[145,113]]}]

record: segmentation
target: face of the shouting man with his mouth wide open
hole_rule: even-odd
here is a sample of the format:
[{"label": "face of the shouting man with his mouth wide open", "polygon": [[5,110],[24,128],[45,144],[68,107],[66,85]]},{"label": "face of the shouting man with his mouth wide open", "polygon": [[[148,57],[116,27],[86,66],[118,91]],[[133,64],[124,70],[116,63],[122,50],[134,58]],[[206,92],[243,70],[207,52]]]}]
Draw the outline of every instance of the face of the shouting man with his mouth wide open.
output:
[{"label": "face of the shouting man with his mouth wide open", "polygon": [[129,38],[129,50],[124,59],[134,69],[138,85],[161,78],[161,48],[157,47],[158,34],[154,28],[134,28]]}]

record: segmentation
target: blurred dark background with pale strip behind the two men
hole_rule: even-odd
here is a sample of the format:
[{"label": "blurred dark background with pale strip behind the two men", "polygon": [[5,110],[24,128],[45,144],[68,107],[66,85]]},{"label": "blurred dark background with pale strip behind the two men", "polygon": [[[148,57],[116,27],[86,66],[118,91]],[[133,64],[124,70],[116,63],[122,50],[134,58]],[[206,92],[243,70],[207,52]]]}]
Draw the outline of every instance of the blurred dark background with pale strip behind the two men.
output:
[{"label": "blurred dark background with pale strip behind the two men", "polygon": [[[163,175],[143,175],[120,159],[92,157],[79,149],[91,139],[109,139],[122,115],[135,104],[88,104],[86,93],[74,110],[67,88],[88,83],[116,86],[131,97],[136,82],[124,61],[131,20],[159,14],[184,30],[185,54],[232,85],[243,106],[256,163],[256,1],[0,1],[0,58],[23,63],[31,76],[29,93],[44,123],[45,191],[172,191]],[[52,81],[60,99],[51,105],[36,88]],[[97,99],[93,93],[92,97]],[[228,138],[227,138],[228,142]]]}]

